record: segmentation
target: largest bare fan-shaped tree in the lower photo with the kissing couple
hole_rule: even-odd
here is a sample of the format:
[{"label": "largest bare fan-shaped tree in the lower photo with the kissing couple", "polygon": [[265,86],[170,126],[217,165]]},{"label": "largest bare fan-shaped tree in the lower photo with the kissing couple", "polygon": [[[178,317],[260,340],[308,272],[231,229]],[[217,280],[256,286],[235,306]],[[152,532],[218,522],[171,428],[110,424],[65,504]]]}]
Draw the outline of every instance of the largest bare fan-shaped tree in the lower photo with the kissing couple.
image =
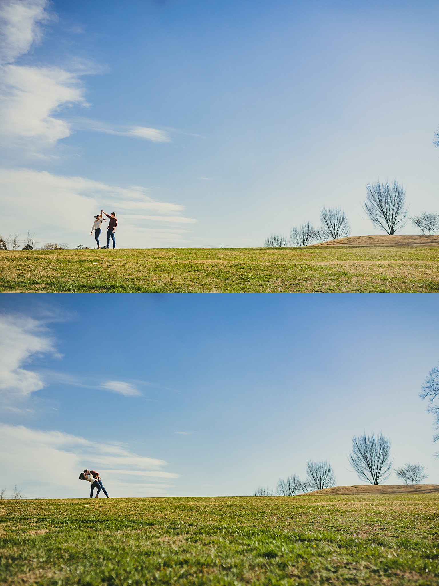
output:
[{"label": "largest bare fan-shaped tree in the lower photo with the kissing couple", "polygon": [[389,478],[393,464],[391,445],[389,438],[381,432],[379,435],[354,435],[348,459],[358,478],[374,485]]}]

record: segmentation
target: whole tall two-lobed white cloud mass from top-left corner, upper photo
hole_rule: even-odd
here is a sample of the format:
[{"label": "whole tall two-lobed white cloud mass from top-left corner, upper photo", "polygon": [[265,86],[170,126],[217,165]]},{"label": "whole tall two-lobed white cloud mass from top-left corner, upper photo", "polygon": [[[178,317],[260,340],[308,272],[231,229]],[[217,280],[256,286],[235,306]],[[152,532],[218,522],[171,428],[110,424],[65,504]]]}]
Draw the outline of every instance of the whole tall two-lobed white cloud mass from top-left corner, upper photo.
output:
[{"label": "whole tall two-lobed white cloud mass from top-left corner, upper photo", "polygon": [[77,73],[15,63],[40,39],[47,4],[4,0],[0,6],[0,137],[8,148],[38,151],[53,146],[71,132],[70,124],[53,114],[67,104],[85,104]]}]

